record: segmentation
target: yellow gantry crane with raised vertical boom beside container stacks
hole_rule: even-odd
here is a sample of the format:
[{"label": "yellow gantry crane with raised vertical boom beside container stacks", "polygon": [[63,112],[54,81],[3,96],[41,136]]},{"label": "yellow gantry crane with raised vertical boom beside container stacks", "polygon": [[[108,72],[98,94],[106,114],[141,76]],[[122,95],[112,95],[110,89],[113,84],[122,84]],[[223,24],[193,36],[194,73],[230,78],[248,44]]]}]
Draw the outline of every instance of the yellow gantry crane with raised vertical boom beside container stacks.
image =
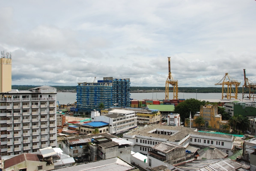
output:
[{"label": "yellow gantry crane with raised vertical boom beside container stacks", "polygon": [[178,80],[174,80],[171,73],[171,62],[168,57],[169,74],[165,82],[165,99],[169,99],[169,84],[173,86],[173,99],[178,99]]}]

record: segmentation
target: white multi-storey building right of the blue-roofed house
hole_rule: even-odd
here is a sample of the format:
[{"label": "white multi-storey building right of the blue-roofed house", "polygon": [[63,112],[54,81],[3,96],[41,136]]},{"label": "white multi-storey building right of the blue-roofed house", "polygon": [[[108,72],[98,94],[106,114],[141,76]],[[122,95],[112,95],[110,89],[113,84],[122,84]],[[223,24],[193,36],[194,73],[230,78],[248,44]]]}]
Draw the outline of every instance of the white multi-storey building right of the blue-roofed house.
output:
[{"label": "white multi-storey building right of the blue-roofed house", "polygon": [[120,134],[128,132],[137,127],[137,115],[131,110],[114,109],[108,115],[99,115],[98,112],[91,112],[92,121],[102,121],[109,124],[109,133]]}]

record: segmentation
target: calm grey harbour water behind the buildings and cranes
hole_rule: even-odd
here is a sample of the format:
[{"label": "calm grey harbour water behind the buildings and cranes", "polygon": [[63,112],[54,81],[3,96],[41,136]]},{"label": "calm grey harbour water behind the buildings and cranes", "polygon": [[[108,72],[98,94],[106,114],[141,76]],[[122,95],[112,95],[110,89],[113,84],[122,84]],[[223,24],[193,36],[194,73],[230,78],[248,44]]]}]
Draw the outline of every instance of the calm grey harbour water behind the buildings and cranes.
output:
[{"label": "calm grey harbour water behind the buildings and cranes", "polygon": [[[207,100],[207,99],[221,99],[222,93],[178,93],[179,99],[189,99],[189,98],[195,98],[197,97],[198,100]],[[233,94],[232,94],[233,95]],[[247,96],[249,94],[246,94]],[[238,99],[242,99],[243,94],[238,93]],[[154,92],[154,93],[131,93],[131,99],[134,100],[143,100],[143,99],[153,99],[159,100],[164,99],[165,92]],[[170,99],[173,97],[173,92],[169,93]],[[74,103],[77,99],[76,93],[70,93],[70,92],[58,92],[57,93],[57,101],[59,101],[60,104],[68,104],[68,103]]]}]

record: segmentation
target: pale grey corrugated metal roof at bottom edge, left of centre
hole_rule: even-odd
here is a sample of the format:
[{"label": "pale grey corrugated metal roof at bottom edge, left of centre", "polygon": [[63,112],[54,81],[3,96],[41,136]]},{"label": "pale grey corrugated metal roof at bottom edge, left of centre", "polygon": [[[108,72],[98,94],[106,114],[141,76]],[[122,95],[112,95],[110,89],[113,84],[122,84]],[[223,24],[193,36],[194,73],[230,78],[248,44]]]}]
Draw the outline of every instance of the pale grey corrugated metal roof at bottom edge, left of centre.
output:
[{"label": "pale grey corrugated metal roof at bottom edge, left of centre", "polygon": [[115,157],[81,165],[74,165],[67,168],[59,168],[55,171],[130,171],[134,168],[134,166]]}]

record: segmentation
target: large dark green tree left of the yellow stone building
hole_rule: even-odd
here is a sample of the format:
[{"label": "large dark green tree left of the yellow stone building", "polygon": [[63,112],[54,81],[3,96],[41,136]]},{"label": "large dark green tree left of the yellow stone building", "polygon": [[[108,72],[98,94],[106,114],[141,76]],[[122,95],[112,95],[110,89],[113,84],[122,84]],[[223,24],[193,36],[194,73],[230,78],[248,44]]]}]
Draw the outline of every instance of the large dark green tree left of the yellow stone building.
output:
[{"label": "large dark green tree left of the yellow stone building", "polygon": [[196,99],[187,99],[181,103],[178,103],[175,106],[174,112],[179,113],[182,121],[185,121],[185,118],[189,118],[190,111],[191,117],[196,114],[196,112],[200,111],[200,106],[205,105],[205,101],[196,100]]}]

